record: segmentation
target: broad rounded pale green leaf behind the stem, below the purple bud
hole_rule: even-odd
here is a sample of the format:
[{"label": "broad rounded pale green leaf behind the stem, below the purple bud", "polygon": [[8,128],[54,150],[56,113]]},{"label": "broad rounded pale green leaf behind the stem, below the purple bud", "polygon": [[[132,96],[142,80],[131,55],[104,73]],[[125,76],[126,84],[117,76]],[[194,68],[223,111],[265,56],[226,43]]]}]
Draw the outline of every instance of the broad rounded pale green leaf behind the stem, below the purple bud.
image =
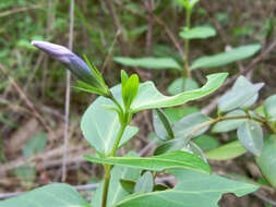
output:
[{"label": "broad rounded pale green leaf behind the stem, below the purple bud", "polygon": [[[120,85],[115,86],[111,89],[111,93],[119,102],[122,102]],[[112,150],[120,127],[120,121],[116,111],[106,110],[103,108],[103,105],[116,107],[111,100],[105,97],[98,97],[83,114],[81,129],[84,137],[97,150],[97,153],[108,155]],[[136,133],[136,127],[128,126],[123,133],[120,146]]]}]

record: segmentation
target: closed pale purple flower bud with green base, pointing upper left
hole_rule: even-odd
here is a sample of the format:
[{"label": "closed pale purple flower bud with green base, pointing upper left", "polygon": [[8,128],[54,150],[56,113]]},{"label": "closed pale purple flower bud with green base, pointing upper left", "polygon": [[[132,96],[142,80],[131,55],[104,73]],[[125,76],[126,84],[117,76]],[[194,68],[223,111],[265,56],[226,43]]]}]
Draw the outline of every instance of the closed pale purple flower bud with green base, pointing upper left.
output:
[{"label": "closed pale purple flower bud with green base, pointing upper left", "polygon": [[103,90],[103,94],[108,95],[109,89],[103,78],[95,76],[95,73],[80,57],[63,46],[47,41],[32,41],[32,45],[49,54],[52,59],[65,64],[65,66],[82,82]]}]

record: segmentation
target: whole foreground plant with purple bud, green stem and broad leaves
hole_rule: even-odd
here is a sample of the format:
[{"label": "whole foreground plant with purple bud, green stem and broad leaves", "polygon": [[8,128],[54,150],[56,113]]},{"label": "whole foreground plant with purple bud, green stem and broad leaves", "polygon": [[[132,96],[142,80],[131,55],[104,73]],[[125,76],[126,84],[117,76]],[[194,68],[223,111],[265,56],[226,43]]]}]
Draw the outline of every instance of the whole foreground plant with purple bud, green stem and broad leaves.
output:
[{"label": "whole foreground plant with purple bud, green stem and broad leaves", "polygon": [[[165,147],[166,150],[159,146],[156,150],[158,153],[152,157],[139,157],[133,151],[123,157],[117,155],[117,150],[136,134],[137,127],[130,124],[133,114],[142,110],[157,110],[161,123],[165,123],[169,142],[181,139],[180,134],[185,137],[184,133],[170,129],[169,121],[159,108],[180,106],[215,92],[224,83],[226,73],[208,75],[205,85],[199,89],[164,96],[153,82],[140,84],[137,75],[129,76],[121,71],[121,84],[109,89],[96,66],[87,60],[85,63],[59,45],[46,41],[32,44],[62,62],[76,76],[80,85],[76,89],[99,95],[85,111],[81,129],[84,137],[96,150],[94,156],[85,155],[84,158],[94,163],[103,163],[105,178],[94,193],[91,204],[70,185],[55,183],[0,202],[0,207],[213,207],[217,206],[224,193],[242,196],[257,188],[256,185],[212,173],[208,163],[196,154],[187,151],[187,146],[172,149],[169,145],[169,148]],[[260,86],[253,89],[252,96],[257,89]],[[235,109],[232,106],[231,108]],[[185,129],[184,124],[183,127]],[[200,130],[202,126],[194,131]],[[156,184],[158,172],[173,174],[178,184],[172,188]]]}]

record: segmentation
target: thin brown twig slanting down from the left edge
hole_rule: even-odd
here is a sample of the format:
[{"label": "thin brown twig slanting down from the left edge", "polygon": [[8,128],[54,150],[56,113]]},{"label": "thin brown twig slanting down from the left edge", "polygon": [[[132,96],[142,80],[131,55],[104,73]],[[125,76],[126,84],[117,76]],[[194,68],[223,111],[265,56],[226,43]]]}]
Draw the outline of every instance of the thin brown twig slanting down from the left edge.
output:
[{"label": "thin brown twig slanting down from the left edge", "polygon": [[52,130],[46,123],[46,121],[43,119],[43,117],[39,114],[39,112],[36,110],[34,104],[24,94],[24,92],[21,89],[21,87],[14,81],[14,78],[9,75],[8,70],[5,69],[5,66],[2,65],[2,64],[0,64],[0,70],[8,76],[9,82],[15,88],[15,90],[20,94],[21,98],[25,100],[25,102],[28,106],[28,108],[33,111],[35,118],[43,124],[43,126],[46,129],[47,132],[52,133]]}]

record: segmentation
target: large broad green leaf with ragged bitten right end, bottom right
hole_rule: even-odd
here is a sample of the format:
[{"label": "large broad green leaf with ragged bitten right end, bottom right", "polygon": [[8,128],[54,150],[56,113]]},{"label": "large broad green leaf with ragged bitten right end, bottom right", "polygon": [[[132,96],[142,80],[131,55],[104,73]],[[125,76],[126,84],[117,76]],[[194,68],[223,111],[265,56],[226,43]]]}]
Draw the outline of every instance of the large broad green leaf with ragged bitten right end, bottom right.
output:
[{"label": "large broad green leaf with ragged bitten right end, bottom right", "polygon": [[180,169],[170,170],[178,184],[172,190],[125,197],[116,207],[215,207],[225,193],[242,196],[257,190],[256,185],[228,180],[217,174],[203,174]]}]

